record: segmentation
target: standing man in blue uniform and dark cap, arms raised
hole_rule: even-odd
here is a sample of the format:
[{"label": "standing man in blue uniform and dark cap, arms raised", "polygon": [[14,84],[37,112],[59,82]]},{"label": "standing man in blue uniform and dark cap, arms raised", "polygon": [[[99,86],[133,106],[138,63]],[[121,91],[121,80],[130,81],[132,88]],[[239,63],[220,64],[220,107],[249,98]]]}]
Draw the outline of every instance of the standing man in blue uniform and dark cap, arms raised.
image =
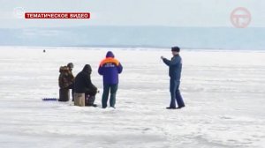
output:
[{"label": "standing man in blue uniform and dark cap, arms raised", "polygon": [[[170,67],[170,107],[167,109],[177,109],[185,107],[181,94],[179,92],[179,85],[180,85],[180,77],[181,77],[181,70],[182,70],[182,59],[179,55],[180,48],[172,47],[171,48],[173,57],[171,60],[168,60],[161,56],[163,63]],[[178,107],[176,107],[176,100],[178,103]]]}]

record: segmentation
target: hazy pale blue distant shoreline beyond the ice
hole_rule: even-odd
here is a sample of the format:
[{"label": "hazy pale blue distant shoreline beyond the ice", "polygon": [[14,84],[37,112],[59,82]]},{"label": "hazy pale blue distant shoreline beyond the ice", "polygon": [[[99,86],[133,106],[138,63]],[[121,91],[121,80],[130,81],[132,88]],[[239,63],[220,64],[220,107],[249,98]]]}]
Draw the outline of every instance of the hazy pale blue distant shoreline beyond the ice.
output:
[{"label": "hazy pale blue distant shoreline beyond the ice", "polygon": [[265,28],[76,26],[1,29],[0,46],[265,50]]}]

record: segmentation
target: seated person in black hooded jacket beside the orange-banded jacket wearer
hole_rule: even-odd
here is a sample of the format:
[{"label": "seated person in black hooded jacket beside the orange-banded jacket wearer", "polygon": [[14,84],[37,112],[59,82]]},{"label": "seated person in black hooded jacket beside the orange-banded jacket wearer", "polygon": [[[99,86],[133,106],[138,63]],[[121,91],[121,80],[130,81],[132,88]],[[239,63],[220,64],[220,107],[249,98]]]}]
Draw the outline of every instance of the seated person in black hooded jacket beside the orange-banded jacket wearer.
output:
[{"label": "seated person in black hooded jacket beside the orange-banded jacket wearer", "polygon": [[74,105],[79,107],[91,106],[96,107],[94,104],[95,94],[97,88],[91,82],[92,69],[89,64],[86,64],[76,76],[74,81]]}]

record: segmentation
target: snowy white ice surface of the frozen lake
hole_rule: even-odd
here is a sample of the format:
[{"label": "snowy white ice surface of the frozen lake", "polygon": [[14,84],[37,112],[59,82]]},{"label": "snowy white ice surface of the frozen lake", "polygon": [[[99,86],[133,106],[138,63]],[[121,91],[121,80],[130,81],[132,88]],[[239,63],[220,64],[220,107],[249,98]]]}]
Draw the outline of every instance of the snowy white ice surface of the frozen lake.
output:
[{"label": "snowy white ice surface of the frozen lake", "polygon": [[[74,63],[76,75],[89,63],[101,105],[108,50],[124,66],[116,109],[42,101],[58,97],[61,65]],[[0,147],[265,147],[265,52],[183,49],[180,110],[165,109],[161,55],[170,49],[1,47]]]}]

